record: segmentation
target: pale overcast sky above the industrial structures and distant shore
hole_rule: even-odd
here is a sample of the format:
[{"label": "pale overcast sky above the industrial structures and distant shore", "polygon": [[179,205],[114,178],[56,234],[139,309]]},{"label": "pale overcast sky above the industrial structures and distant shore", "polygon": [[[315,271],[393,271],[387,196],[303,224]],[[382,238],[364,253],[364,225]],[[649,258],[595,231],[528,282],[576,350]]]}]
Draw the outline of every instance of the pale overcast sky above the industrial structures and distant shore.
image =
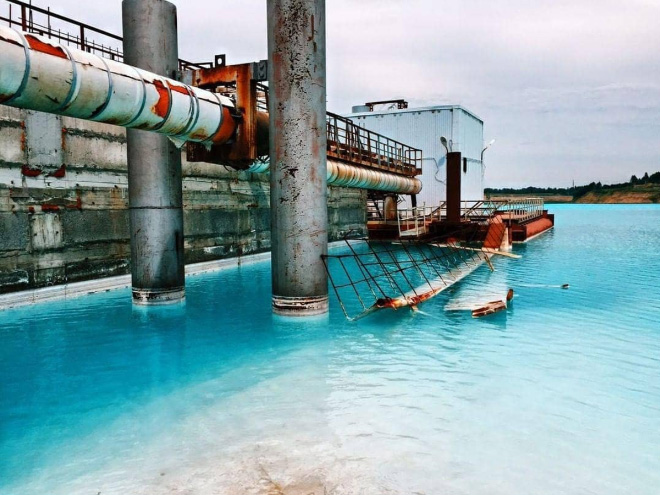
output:
[{"label": "pale overcast sky above the industrial structures and distant shore", "polygon": [[[179,54],[266,58],[266,0],[176,0]],[[33,0],[121,32],[121,1]],[[326,0],[328,109],[406,98],[485,122],[488,186],[660,170],[660,0]],[[4,12],[3,12],[4,13]]]}]

